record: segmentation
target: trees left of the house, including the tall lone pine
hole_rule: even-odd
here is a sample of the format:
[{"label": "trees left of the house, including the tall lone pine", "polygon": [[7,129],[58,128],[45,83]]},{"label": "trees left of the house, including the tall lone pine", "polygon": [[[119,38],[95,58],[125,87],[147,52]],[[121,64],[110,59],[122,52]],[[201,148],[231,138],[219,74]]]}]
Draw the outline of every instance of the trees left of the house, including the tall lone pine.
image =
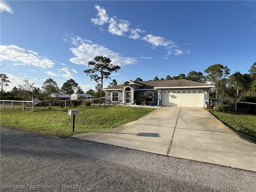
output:
[{"label": "trees left of the house, including the tall lone pine", "polygon": [[[104,95],[102,91],[103,88],[103,79],[110,78],[111,72],[114,72],[120,69],[119,66],[114,66],[110,63],[109,58],[103,56],[97,56],[94,58],[94,61],[88,62],[88,66],[93,68],[84,70],[87,75],[90,75],[90,79],[94,80],[98,84],[95,86],[95,90],[88,90],[84,92],[82,88],[76,83],[73,79],[67,80],[61,87],[52,79],[48,78],[42,84],[41,89],[34,86],[34,83],[30,84],[27,79],[23,80],[23,84],[19,84],[18,87],[12,88],[11,91],[5,92],[4,86],[9,86],[11,83],[8,80],[8,76],[5,74],[0,74],[0,85],[1,85],[1,99],[4,100],[32,100],[32,95],[36,96],[40,100],[52,100],[51,94],[90,94],[94,98],[100,98]],[[96,73],[99,74],[96,74]],[[113,80],[109,86],[117,85],[116,80]],[[51,102],[50,102],[51,103]]]}]

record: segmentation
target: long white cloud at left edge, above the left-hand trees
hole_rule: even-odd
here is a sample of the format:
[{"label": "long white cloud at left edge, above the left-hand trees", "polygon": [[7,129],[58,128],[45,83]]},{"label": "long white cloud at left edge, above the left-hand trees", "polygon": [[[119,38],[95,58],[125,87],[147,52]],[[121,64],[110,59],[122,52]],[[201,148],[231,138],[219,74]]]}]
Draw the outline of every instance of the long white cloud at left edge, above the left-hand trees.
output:
[{"label": "long white cloud at left edge, above the left-hand trees", "polygon": [[41,68],[52,68],[54,62],[38,53],[15,45],[0,45],[0,60],[7,60],[14,65],[34,65]]}]

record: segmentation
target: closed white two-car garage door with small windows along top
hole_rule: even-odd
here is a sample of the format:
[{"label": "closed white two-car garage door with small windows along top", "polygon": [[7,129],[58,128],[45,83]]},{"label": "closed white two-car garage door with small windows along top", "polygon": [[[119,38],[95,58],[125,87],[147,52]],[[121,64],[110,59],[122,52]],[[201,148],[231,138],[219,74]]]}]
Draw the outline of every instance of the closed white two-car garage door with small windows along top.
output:
[{"label": "closed white two-car garage door with small windows along top", "polygon": [[201,90],[166,90],[162,92],[162,106],[203,107],[204,92]]}]

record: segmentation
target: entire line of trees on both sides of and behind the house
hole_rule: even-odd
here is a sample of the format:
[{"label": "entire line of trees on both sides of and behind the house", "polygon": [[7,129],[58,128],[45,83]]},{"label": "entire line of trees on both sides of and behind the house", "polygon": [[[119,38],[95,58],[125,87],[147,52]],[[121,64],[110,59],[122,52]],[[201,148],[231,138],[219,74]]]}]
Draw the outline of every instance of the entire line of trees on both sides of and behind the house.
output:
[{"label": "entire line of trees on both sides of and behind the house", "polygon": [[[109,58],[103,56],[97,56],[94,61],[88,62],[88,66],[92,67],[84,72],[90,76],[90,80],[94,80],[97,85],[95,90],[88,90],[85,94],[91,94],[94,98],[104,96],[103,80],[110,79],[112,72],[120,70],[119,66],[111,64]],[[186,79],[202,83],[211,83],[214,88],[210,90],[210,97],[222,98],[227,101],[244,100],[249,102],[256,102],[256,62],[248,70],[249,73],[241,74],[241,72],[235,72],[230,75],[230,70],[221,64],[214,64],[209,66],[204,73],[191,71],[187,75],[179,74],[178,76],[171,77],[167,75],[166,78],[158,78],[157,76],[152,81],[158,80],[179,80]],[[143,81],[141,78],[136,78],[134,82]],[[10,80],[5,74],[0,74],[1,84],[1,99],[8,100],[31,100],[32,94],[42,100],[50,99],[52,93],[55,94],[73,94],[84,93],[84,91],[73,80],[67,80],[62,87],[58,87],[57,83],[48,78],[42,85],[41,89],[34,86],[34,83],[30,84],[27,79],[23,80],[23,84],[19,84],[18,87],[14,87],[11,91],[5,92],[4,86],[9,86]],[[115,86],[117,82],[115,79],[108,86]]]}]

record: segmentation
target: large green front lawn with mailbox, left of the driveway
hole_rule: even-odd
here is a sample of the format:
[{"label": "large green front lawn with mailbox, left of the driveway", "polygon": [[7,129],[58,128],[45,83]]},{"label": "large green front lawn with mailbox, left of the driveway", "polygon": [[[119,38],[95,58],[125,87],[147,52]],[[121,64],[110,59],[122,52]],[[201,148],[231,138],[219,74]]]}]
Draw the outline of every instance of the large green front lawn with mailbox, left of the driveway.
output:
[{"label": "large green front lawn with mailbox, left of the driveway", "polygon": [[[72,132],[73,117],[68,115],[69,109],[78,109],[75,116],[75,131]],[[14,110],[3,109],[1,106],[0,124],[32,130],[43,134],[50,134],[60,138],[68,138],[72,135],[95,132],[116,128],[122,124],[138,120],[142,116],[152,112],[155,108],[138,108],[124,106],[78,106],[60,108],[59,106],[48,108],[35,107],[22,111],[15,107]]]}]

